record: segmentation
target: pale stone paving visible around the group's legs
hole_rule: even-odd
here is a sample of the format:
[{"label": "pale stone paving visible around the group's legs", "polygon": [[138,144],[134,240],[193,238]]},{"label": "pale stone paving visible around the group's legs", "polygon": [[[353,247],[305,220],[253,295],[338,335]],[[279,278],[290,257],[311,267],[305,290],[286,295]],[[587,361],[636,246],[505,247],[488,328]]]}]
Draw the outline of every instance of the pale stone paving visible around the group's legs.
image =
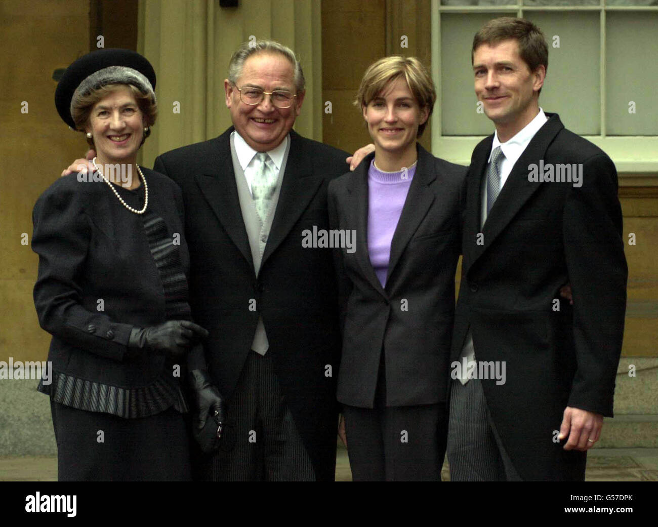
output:
[{"label": "pale stone paving visible around the group's legs", "polygon": [[[450,479],[447,463],[442,478]],[[338,449],[336,481],[351,481],[347,451]],[[0,481],[55,481],[56,457],[0,457]],[[587,481],[658,481],[658,449],[610,448],[588,453]]]}]

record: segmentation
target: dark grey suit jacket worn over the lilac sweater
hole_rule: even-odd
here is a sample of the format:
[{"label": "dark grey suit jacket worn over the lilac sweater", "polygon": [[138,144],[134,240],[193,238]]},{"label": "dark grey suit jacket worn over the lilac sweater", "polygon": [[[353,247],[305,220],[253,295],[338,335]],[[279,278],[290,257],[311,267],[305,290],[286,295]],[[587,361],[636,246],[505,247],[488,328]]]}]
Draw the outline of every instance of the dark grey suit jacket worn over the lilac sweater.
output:
[{"label": "dark grey suit jacket worn over the lilac sweater", "polygon": [[445,400],[467,169],[417,147],[385,288],[368,254],[368,169],[374,154],[329,185],[332,228],[355,230],[357,239],[355,252],[335,251],[344,320],[338,400],[346,405],[373,407],[381,353],[387,406]]}]

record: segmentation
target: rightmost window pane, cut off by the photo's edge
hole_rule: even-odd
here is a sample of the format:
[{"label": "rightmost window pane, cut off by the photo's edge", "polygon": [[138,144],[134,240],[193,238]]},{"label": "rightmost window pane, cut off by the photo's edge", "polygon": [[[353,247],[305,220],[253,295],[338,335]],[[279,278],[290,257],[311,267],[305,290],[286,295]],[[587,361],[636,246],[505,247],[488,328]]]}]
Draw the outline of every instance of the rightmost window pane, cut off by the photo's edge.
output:
[{"label": "rightmost window pane, cut off by the photo's edge", "polygon": [[658,13],[654,12],[609,11],[606,15],[608,135],[658,135],[655,111],[657,27]]}]

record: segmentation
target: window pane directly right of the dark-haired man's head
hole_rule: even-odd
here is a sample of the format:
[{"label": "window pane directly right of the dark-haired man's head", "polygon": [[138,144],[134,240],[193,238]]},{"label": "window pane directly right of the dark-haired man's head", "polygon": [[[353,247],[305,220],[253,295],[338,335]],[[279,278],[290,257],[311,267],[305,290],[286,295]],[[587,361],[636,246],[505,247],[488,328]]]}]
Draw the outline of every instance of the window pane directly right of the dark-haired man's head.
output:
[{"label": "window pane directly right of the dark-haired man's head", "polygon": [[540,106],[559,114],[576,134],[601,134],[599,13],[527,11],[526,15],[544,32],[548,43],[548,70]]}]

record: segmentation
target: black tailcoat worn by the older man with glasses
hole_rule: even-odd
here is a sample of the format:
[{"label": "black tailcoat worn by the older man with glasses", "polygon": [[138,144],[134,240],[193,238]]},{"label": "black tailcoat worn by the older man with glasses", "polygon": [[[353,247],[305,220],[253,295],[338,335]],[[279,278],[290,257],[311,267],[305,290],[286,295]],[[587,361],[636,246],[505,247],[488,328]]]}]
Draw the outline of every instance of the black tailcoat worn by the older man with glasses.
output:
[{"label": "black tailcoat worn by the older man with glasses", "polygon": [[[326,189],[347,153],[290,132],[290,153],[259,276],[255,276],[230,152],[218,138],[159,156],[155,169],[180,185],[190,247],[190,305],[207,328],[205,359],[230,397],[263,316],[286,403],[318,480],[334,480],[340,330],[331,249],[302,247],[302,232],[328,228]],[[249,305],[255,299],[257,309]],[[229,408],[230,414],[230,408]]]}]

